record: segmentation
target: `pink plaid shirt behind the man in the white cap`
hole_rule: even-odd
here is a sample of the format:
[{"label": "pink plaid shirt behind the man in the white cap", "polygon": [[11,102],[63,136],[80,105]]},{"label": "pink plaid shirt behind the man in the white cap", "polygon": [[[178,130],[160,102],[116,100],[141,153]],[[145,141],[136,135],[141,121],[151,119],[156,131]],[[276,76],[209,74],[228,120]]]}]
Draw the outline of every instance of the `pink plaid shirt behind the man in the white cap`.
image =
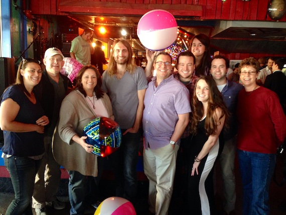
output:
[{"label": "pink plaid shirt behind the man in the white cap", "polygon": [[78,62],[76,59],[71,57],[64,58],[64,66],[61,69],[61,73],[67,76],[71,82],[76,78],[78,71],[83,67],[83,65]]}]

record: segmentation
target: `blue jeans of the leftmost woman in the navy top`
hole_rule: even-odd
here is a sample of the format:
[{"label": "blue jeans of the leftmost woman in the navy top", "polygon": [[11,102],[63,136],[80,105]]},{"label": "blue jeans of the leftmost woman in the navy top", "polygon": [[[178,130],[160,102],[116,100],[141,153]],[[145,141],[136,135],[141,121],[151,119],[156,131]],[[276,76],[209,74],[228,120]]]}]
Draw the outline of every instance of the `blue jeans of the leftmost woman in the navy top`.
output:
[{"label": "blue jeans of the leftmost woman in the navy top", "polygon": [[15,198],[7,208],[6,214],[32,215],[31,199],[34,191],[35,176],[41,160],[28,157],[4,157],[13,184]]}]

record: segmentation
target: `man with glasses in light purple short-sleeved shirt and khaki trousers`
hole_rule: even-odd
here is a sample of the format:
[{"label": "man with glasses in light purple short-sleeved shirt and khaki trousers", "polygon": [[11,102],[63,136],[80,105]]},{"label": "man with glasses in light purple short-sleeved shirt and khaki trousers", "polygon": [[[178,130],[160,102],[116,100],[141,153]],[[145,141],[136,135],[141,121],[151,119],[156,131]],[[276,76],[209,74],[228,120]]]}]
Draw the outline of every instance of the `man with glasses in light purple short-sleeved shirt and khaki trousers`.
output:
[{"label": "man with glasses in light purple short-sleeved shirt and khaki trousers", "polygon": [[144,99],[144,172],[149,179],[149,210],[168,214],[176,171],[176,158],[191,112],[189,90],[171,75],[172,58],[159,53],[156,76]]}]

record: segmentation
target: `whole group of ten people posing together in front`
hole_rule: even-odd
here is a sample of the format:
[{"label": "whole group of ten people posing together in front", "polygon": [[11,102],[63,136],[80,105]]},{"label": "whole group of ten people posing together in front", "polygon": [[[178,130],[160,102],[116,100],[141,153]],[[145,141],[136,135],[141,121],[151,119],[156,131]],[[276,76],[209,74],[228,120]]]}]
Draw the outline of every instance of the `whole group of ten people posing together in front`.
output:
[{"label": "whole group of ten people posing together in front", "polygon": [[[79,44],[92,36],[83,35]],[[226,77],[226,57],[210,58],[209,45],[207,36],[196,35],[190,51],[177,57],[174,73],[168,53],[147,50],[144,71],[134,63],[130,44],[117,39],[102,77],[95,67],[83,66],[72,91],[71,81],[60,73],[64,56],[59,49],[45,52],[44,71],[39,62],[23,59],[0,106],[3,157],[15,191],[6,214],[32,214],[32,196],[37,215],[46,214],[46,204],[64,208],[56,198],[60,165],[70,175],[70,214],[83,214],[87,204],[97,207],[96,192],[107,160],[116,196],[135,203],[141,125],[150,213],[168,214],[175,175],[183,166],[186,214],[216,214],[213,172],[218,161],[224,212],[230,214],[236,201],[237,151],[243,214],[269,214],[275,152],[286,136],[279,97],[256,83],[259,63],[254,58],[238,66],[241,85]],[[72,45],[71,56],[77,48]],[[280,68],[278,60],[273,64]],[[97,117],[114,120],[122,132],[120,148],[108,159],[92,154],[82,133]],[[183,163],[176,162],[179,158]]]}]

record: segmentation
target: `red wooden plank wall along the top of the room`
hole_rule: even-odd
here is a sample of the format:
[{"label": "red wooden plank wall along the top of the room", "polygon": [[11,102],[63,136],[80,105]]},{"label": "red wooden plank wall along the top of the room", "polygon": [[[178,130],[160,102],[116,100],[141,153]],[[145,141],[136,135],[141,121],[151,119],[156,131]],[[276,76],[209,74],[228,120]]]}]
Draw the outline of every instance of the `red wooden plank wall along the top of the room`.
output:
[{"label": "red wooden plank wall along the top of the room", "polygon": [[[61,0],[31,0],[31,10],[38,15],[66,15],[58,12],[57,7]],[[73,0],[80,1],[82,0]],[[202,16],[199,20],[249,20],[249,21],[273,21],[267,15],[268,3],[270,0],[84,0],[93,2],[120,2],[130,4],[189,4],[202,6]],[[273,21],[275,22],[275,21]],[[286,22],[284,16],[280,22]],[[286,23],[285,23],[286,26]],[[247,57],[272,56],[268,54],[252,53],[230,53],[226,54],[229,59],[239,60]],[[274,55],[286,57],[285,55]]]}]

